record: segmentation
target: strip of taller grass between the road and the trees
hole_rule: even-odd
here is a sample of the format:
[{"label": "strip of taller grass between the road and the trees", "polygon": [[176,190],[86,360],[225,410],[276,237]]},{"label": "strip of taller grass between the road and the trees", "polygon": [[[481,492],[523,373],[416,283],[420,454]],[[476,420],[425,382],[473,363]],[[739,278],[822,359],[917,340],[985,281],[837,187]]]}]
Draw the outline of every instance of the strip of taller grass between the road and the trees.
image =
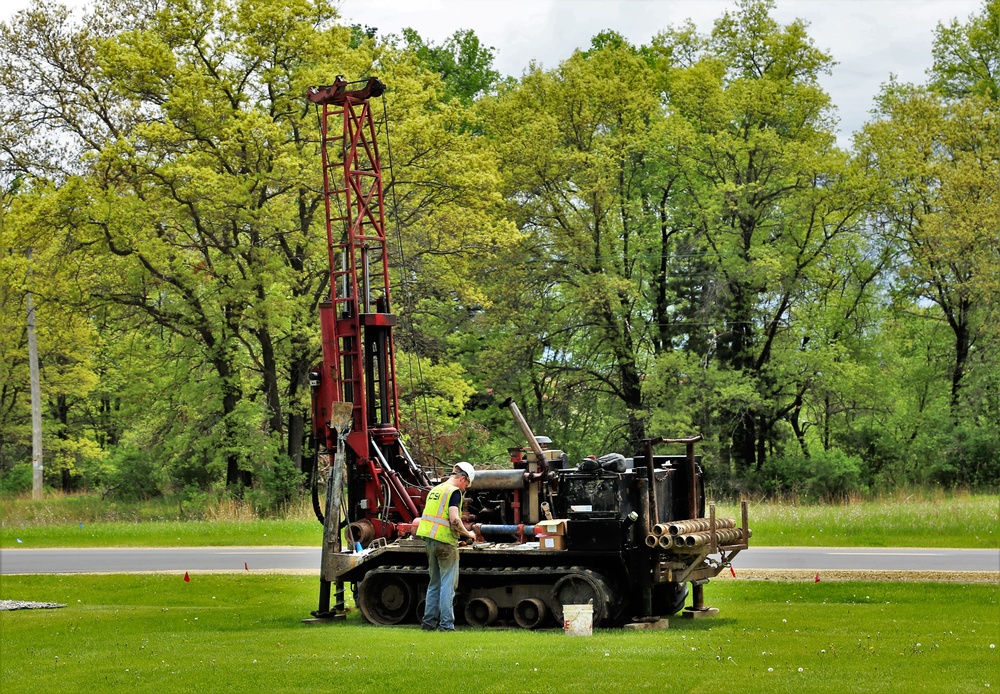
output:
[{"label": "strip of taller grass between the road and the trees", "polygon": [[[238,505],[202,509],[192,519],[175,505],[101,504],[93,497],[0,501],[0,548],[317,547],[322,528],[308,504],[284,519],[256,519]],[[721,517],[739,517],[720,504]],[[750,505],[752,545],[825,547],[1000,547],[1000,502],[990,495],[900,496],[849,504]],[[18,542],[20,540],[20,542]]]}]

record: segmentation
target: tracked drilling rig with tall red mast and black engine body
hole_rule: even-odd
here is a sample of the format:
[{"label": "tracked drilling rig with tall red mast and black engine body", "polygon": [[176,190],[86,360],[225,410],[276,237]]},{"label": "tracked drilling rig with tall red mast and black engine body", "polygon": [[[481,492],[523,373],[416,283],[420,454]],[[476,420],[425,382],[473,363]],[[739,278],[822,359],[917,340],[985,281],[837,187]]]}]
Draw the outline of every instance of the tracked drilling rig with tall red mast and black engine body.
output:
[{"label": "tracked drilling rig with tall red mast and black engine body", "polygon": [[[377,78],[309,90],[320,122],[330,296],[320,306],[322,365],[310,374],[313,501],[323,523],[315,620],[343,619],[345,587],[373,624],[417,623],[427,559],[413,537],[437,484],[400,436],[382,167],[372,100]],[[695,444],[650,438],[630,456],[571,463],[545,447],[510,399],[525,439],[508,469],[477,464],[463,518],[477,542],[460,548],[455,613],[473,626],[533,629],[593,605],[594,626],[642,625],[684,610],[717,613],[703,587],[748,546],[741,519],[716,518]],[[663,455],[661,444],[685,453]],[[473,461],[475,463],[475,461]],[[325,505],[319,501],[325,485]],[[689,588],[690,586],[690,588]],[[685,609],[688,597],[691,605]]]}]

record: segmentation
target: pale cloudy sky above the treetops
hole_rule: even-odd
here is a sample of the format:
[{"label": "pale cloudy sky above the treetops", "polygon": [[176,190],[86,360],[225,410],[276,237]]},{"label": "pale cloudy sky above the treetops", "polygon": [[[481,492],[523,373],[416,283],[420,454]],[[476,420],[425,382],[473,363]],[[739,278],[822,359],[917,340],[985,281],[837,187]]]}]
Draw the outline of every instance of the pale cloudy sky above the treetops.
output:
[{"label": "pale cloudy sky above the treetops", "polygon": [[[82,6],[85,0],[68,0]],[[29,0],[0,0],[6,20]],[[347,23],[400,34],[412,27],[425,41],[440,43],[472,29],[495,50],[495,68],[520,76],[534,60],[554,68],[574,49],[586,48],[598,32],[614,30],[633,44],[647,44],[658,32],[691,19],[702,32],[732,0],[334,0]],[[839,141],[869,118],[873,99],[890,75],[903,82],[925,81],[931,65],[934,28],[968,20],[983,0],[776,0],[772,16],[787,24],[808,22],[815,45],[837,62],[821,79],[840,117]]]}]

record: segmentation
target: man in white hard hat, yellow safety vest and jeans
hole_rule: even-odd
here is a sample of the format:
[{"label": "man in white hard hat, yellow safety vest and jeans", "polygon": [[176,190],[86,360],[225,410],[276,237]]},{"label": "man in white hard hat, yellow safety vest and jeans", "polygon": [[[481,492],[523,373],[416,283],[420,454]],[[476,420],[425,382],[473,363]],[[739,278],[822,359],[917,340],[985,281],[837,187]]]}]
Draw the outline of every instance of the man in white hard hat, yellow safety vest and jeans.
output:
[{"label": "man in white hard hat, yellow safety vest and jeans", "polygon": [[465,490],[476,479],[476,469],[461,462],[451,477],[427,495],[424,513],[417,524],[417,537],[427,544],[427,597],[424,600],[424,631],[455,631],[455,589],[458,587],[458,542],[476,541],[462,523]]}]

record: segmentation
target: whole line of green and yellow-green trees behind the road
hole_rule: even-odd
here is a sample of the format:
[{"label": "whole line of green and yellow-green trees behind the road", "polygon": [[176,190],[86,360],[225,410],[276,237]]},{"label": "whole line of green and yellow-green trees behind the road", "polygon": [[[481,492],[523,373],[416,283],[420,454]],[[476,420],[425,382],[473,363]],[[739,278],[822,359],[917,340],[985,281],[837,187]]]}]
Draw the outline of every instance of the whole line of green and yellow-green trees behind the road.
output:
[{"label": "whole line of green and yellow-green trees behind the road", "polygon": [[0,488],[274,505],[329,292],[310,86],[379,76],[408,447],[705,436],[719,489],[1000,483],[1000,0],[837,146],[834,69],[741,0],[702,34],[493,68],[326,0],[36,0],[0,27]]}]

